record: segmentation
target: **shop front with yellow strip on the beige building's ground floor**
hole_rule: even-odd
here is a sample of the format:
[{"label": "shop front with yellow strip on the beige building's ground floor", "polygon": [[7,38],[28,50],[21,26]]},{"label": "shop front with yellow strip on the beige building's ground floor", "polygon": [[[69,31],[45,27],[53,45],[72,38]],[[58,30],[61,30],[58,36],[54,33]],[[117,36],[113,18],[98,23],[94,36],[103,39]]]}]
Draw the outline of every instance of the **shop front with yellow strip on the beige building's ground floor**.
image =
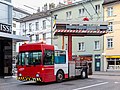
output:
[{"label": "shop front with yellow strip on the beige building's ground floor", "polygon": [[107,71],[120,71],[120,56],[106,56]]}]

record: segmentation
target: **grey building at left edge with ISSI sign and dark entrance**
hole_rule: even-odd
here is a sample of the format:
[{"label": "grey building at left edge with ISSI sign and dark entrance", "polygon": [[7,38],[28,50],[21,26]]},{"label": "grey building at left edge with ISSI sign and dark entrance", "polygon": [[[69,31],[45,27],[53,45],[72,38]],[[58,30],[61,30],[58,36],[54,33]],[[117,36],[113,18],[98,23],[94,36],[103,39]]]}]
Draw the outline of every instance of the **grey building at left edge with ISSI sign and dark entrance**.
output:
[{"label": "grey building at left edge with ISSI sign and dark entrance", "polygon": [[[0,1],[0,77],[12,75],[12,39],[3,36],[11,34],[12,5],[11,0]],[[4,28],[5,27],[5,28]]]}]

